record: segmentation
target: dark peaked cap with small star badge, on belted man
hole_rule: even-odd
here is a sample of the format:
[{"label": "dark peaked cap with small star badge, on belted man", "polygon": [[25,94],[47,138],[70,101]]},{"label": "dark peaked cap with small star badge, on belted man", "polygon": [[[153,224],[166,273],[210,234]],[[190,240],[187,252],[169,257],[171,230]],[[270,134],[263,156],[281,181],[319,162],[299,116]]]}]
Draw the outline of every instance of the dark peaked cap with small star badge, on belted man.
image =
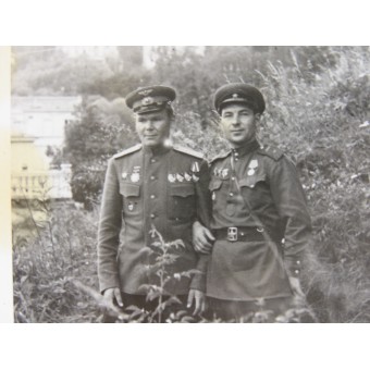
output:
[{"label": "dark peaked cap with small star badge, on belted man", "polygon": [[234,83],[221,86],[214,92],[213,104],[221,114],[222,108],[229,103],[244,103],[250,107],[255,113],[263,113],[266,104],[261,91],[255,86]]}]

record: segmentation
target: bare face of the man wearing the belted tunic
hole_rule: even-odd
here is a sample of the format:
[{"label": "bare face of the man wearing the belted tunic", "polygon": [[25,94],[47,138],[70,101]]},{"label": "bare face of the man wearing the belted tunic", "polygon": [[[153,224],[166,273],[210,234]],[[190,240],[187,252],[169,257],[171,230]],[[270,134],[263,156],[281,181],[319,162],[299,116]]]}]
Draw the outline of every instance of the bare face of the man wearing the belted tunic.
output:
[{"label": "bare face of the man wearing the belted tunic", "polygon": [[233,147],[239,147],[256,137],[256,124],[259,113],[244,104],[229,104],[222,109],[221,126],[225,138]]}]

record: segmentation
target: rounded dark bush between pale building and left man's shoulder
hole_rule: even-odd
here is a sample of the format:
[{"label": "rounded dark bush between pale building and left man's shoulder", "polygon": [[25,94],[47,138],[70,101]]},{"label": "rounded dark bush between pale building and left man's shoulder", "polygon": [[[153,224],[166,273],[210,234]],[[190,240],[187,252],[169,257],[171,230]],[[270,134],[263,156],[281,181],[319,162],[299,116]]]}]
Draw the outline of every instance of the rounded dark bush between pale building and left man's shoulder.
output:
[{"label": "rounded dark bush between pale building and left man's shoulder", "polygon": [[122,99],[86,97],[65,128],[64,159],[72,164],[76,201],[90,208],[101,193],[107,160],[136,141],[131,113]]}]

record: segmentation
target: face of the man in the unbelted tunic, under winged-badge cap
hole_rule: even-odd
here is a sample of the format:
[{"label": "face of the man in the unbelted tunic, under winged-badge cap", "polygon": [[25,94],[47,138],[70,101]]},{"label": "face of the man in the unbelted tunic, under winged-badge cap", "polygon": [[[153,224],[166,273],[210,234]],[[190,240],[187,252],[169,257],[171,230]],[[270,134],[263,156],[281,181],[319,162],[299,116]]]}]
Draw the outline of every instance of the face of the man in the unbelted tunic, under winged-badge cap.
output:
[{"label": "face of the man in the unbelted tunic, under winged-badge cap", "polygon": [[148,147],[162,145],[170,135],[171,121],[172,119],[165,110],[137,114],[136,132],[141,144]]}]

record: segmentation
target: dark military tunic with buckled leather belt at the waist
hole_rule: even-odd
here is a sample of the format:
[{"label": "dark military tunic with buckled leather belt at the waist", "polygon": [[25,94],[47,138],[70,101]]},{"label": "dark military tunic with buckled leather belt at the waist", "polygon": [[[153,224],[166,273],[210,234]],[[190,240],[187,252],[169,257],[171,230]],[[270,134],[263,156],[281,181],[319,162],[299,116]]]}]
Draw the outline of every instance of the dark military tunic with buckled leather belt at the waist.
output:
[{"label": "dark military tunic with buckled leather belt at the waist", "polygon": [[254,141],[215,158],[210,171],[217,242],[207,295],[227,300],[291,296],[287,276],[298,276],[311,231],[295,165],[280,150]]}]

